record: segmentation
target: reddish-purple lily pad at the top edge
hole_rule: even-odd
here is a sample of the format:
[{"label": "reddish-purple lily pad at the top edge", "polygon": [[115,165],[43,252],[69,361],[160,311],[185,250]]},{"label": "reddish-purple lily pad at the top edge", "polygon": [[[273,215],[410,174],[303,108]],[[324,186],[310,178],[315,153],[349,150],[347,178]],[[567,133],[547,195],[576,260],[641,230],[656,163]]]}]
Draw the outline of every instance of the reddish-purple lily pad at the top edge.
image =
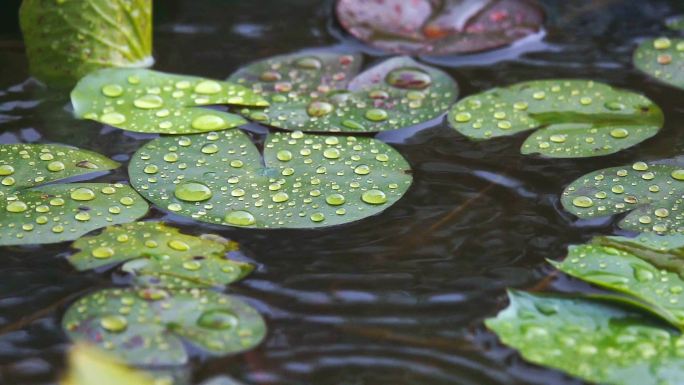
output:
[{"label": "reddish-purple lily pad at the top edge", "polygon": [[544,13],[525,0],[338,0],[342,27],[395,53],[446,55],[491,50],[539,32]]}]

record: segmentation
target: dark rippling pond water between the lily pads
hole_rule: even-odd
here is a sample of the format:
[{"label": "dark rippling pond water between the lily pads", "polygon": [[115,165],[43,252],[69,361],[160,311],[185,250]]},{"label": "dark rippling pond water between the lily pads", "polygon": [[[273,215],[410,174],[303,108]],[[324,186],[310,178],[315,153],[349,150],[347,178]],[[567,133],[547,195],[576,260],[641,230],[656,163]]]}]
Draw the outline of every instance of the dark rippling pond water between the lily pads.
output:
[{"label": "dark rippling pond water between the lily pads", "polygon": [[[18,1],[0,5],[0,142],[65,143],[116,160],[153,136],[75,120],[66,92],[27,80],[15,19]],[[640,40],[668,33],[662,21],[681,0],[544,2],[544,36],[484,55],[433,60],[461,95],[524,80],[582,77],[640,91],[659,104],[666,125],[653,139],[618,154],[575,160],[522,156],[527,134],[471,142],[439,121],[379,136],[414,170],[405,198],[379,216],[315,231],[210,226],[152,210],[200,234],[240,242],[258,268],[228,292],[266,318],[269,333],[242,355],[193,361],[194,383],[228,374],[246,384],[576,385],[526,364],[501,346],[482,320],[506,306],[505,289],[540,285],[573,290],[546,258],[616,221],[577,221],[559,194],[592,170],[681,153],[681,91],[637,72]],[[164,0],[155,3],[156,69],[225,78],[240,65],[313,47],[362,48],[332,21],[321,0]],[[367,62],[380,59],[366,51]],[[680,139],[681,138],[681,139]],[[126,169],[99,180],[127,179]],[[0,384],[54,384],[69,341],[66,307],[111,284],[108,273],[76,273],[68,243],[0,249]]]}]

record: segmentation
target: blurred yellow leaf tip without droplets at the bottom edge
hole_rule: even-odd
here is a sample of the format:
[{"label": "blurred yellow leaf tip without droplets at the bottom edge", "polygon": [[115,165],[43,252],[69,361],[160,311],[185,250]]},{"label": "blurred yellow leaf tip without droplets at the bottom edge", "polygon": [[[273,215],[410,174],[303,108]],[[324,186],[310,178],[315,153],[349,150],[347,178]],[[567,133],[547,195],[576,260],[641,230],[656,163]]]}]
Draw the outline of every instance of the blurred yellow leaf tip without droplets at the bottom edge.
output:
[{"label": "blurred yellow leaf tip without droplets at the bottom edge", "polygon": [[99,349],[77,345],[69,353],[69,372],[60,385],[160,385],[145,372],[137,371]]}]

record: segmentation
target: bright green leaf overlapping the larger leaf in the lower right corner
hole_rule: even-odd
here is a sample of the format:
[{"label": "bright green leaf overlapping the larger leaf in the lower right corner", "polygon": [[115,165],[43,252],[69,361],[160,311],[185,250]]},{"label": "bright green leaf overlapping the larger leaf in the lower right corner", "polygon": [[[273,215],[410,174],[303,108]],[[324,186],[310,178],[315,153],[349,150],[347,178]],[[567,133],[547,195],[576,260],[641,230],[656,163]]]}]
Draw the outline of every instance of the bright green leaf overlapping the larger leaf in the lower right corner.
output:
[{"label": "bright green leaf overlapping the larger leaf in the lower right corner", "polygon": [[[670,236],[682,242],[682,235]],[[569,248],[563,262],[550,261],[556,268],[575,278],[591,284],[625,294],[641,302],[646,309],[684,329],[684,279],[660,266],[654,265],[643,253],[630,253],[613,247],[620,243],[612,238],[610,245],[597,238],[592,244]],[[649,254],[658,250],[646,247]],[[659,258],[657,258],[659,259]],[[684,265],[684,260],[679,260]],[[622,300],[621,300],[622,301]]]}]

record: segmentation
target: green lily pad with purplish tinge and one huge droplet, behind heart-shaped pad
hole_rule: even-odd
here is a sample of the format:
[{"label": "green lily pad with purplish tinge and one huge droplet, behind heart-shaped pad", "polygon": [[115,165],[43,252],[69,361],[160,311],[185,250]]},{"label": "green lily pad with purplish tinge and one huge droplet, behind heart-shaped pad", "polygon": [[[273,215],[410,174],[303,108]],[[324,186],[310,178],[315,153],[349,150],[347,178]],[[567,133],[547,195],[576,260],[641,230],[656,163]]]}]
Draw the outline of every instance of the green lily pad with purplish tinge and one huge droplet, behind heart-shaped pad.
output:
[{"label": "green lily pad with purplish tinge and one huge droplet, behind heart-shaped pad", "polygon": [[267,109],[244,109],[245,116],[292,131],[396,130],[441,116],[458,96],[449,75],[409,57],[354,78],[360,66],[360,55],[298,53],[253,63],[229,80],[271,102]]}]

